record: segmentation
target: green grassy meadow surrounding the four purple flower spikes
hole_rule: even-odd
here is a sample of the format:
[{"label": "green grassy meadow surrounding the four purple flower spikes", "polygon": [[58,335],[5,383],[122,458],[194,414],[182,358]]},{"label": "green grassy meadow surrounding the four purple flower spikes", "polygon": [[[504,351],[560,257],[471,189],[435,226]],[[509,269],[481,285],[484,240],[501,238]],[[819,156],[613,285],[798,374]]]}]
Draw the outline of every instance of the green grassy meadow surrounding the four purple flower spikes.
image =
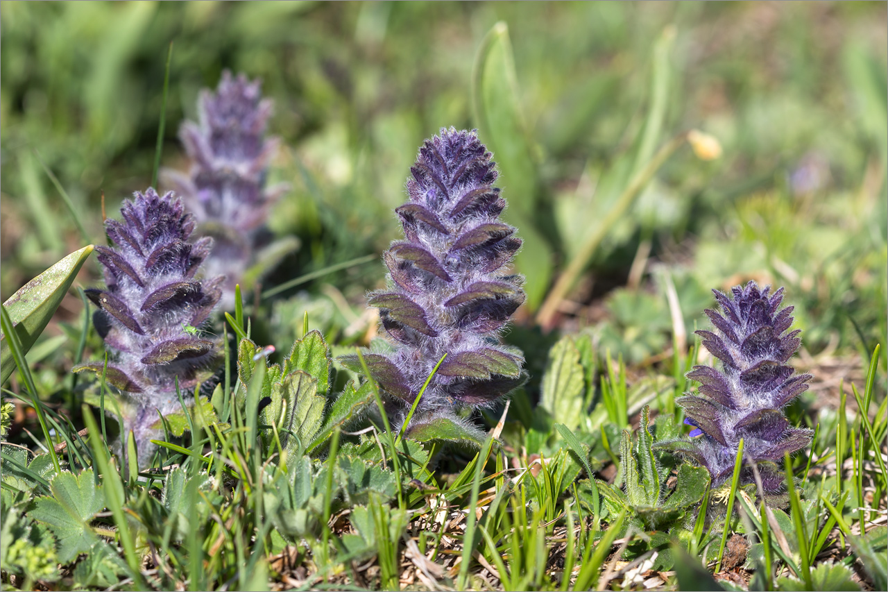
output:
[{"label": "green grassy meadow surrounding the four purple flower spikes", "polygon": [[[20,372],[3,386],[2,588],[855,589],[853,570],[884,589],[884,4],[7,2],[0,16],[4,300],[103,244],[102,192],[114,216],[160,166],[186,168],[178,125],[222,68],[274,100],[270,178],[290,189],[268,230],[300,244],[214,319],[234,345],[225,379],[209,408],[163,418],[144,466],[119,444],[114,389],[68,378],[105,356],[83,292],[28,351],[4,308]],[[263,378],[310,328],[334,356],[370,344],[392,207],[445,125],[480,129],[525,239],[533,293],[505,340],[529,381],[502,426],[502,409],[469,418],[499,436],[480,450],[403,437],[371,383],[287,453],[258,412]],[[722,156],[684,148],[690,130]],[[794,363],[814,375],[788,409],[816,436],[785,460],[787,504],[759,503],[735,471],[670,516],[633,505],[625,473],[645,461],[654,509],[680,490],[686,464],[639,420],[648,405],[654,439],[686,433],[675,399],[707,363],[693,331],[711,288],[748,279],[786,287]],[[90,264],[75,287],[100,283]],[[242,340],[276,348],[249,380]],[[355,378],[335,377],[325,413]]]}]

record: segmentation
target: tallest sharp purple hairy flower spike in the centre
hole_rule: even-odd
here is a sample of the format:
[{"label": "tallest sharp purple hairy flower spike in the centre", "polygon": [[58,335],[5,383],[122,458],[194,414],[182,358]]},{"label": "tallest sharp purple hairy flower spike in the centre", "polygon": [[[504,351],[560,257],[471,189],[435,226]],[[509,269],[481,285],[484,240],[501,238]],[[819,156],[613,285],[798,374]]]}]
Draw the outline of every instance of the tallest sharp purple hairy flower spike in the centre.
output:
[{"label": "tallest sharp purple hairy flower spike in the centre", "polygon": [[[498,218],[506,203],[494,187],[495,166],[476,132],[442,128],[419,149],[409,201],[395,209],[404,240],[384,255],[388,289],[369,299],[395,348],[363,355],[395,428],[447,355],[416,405],[408,435],[431,436],[453,422],[479,436],[457,412],[492,404],[525,380],[523,356],[499,340],[525,295],[523,278],[503,272],[521,240]],[[358,356],[341,360],[362,372]]]}]

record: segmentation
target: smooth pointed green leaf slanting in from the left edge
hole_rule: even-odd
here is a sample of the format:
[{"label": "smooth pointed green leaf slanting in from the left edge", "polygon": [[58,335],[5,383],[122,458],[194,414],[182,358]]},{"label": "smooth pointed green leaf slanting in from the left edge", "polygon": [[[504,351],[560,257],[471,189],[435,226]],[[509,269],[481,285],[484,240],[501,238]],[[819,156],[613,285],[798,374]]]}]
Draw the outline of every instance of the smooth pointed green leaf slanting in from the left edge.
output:
[{"label": "smooth pointed green leaf slanting in from the left edge", "polygon": [[[4,302],[4,308],[12,319],[15,332],[19,335],[22,353],[27,352],[44,331],[68,288],[74,282],[83,262],[90,256],[92,248],[92,245],[88,244],[83,249],[72,252],[52,268],[23,285],[19,292],[15,292]],[[5,336],[0,336],[0,366],[2,366],[0,384],[3,384],[15,370],[12,351]]]}]

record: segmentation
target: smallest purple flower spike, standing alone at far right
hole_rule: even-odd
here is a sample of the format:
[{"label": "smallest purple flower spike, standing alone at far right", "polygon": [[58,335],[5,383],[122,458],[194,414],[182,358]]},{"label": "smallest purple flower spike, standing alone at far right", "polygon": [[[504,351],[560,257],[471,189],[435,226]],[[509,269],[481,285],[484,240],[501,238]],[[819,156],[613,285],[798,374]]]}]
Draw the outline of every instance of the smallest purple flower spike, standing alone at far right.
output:
[{"label": "smallest purple flower spike, standing alone at far right", "polygon": [[733,297],[713,291],[721,313],[707,310],[714,330],[697,334],[721,368],[694,366],[687,373],[700,382],[699,396],[677,399],[685,423],[694,426],[692,442],[664,444],[708,468],[718,486],[733,475],[742,438],[741,484],[755,483],[755,462],[765,499],[779,500],[784,454],[802,450],[813,436],[810,429],[790,425],[781,410],[807,390],[812,377],[787,365],[801,344],[800,331],[789,330],[793,307],[780,308],[783,289],[770,290],[749,282],[732,288]]}]

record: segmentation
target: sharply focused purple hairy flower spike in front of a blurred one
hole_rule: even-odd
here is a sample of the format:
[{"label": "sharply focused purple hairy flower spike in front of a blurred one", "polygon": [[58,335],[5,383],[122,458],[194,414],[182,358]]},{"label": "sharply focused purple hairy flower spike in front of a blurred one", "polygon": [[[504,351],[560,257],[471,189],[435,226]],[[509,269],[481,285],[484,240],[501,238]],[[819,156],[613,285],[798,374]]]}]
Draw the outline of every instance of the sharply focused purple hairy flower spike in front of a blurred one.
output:
[{"label": "sharply focused purple hairy flower spike in front of a blurred one", "polygon": [[153,188],[125,200],[122,221],[105,221],[114,247],[97,246],[104,290],[86,294],[99,310],[93,323],[111,354],[107,364],[80,364],[75,372],[105,372],[124,393],[127,429],[133,429],[140,455],[147,452],[151,428],[162,414],[181,410],[198,382],[210,378],[220,359],[218,339],[198,331],[221,296],[222,277],[197,279],[212,239],[188,238],[194,217],[181,201]]}]

